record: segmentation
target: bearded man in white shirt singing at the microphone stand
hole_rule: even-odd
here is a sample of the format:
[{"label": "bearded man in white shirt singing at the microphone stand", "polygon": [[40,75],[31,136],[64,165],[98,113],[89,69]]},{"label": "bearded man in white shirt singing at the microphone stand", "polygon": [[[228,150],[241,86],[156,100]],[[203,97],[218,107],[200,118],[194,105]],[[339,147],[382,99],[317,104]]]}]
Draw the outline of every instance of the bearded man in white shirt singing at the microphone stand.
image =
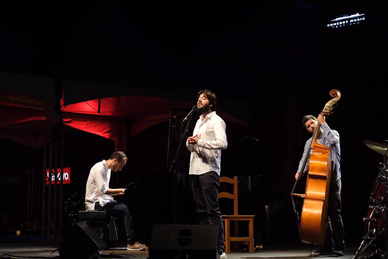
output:
[{"label": "bearded man in white shirt singing at the microphone stand", "polygon": [[220,188],[221,150],[226,149],[226,125],[215,112],[217,97],[209,90],[198,92],[197,112],[199,116],[193,136],[187,138],[186,146],[191,151],[191,188],[196,203],[200,225],[218,226],[218,242],[221,259],[226,258],[223,243],[223,223],[218,205]]}]

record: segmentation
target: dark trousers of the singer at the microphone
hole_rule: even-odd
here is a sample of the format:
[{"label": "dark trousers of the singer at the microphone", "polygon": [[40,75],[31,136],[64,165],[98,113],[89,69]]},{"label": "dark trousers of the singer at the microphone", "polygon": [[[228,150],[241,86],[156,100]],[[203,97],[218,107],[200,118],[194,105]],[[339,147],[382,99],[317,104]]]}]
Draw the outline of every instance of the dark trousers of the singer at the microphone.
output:
[{"label": "dark trousers of the singer at the microphone", "polygon": [[191,174],[191,189],[196,203],[196,210],[199,216],[200,225],[213,224],[218,226],[218,242],[220,250],[225,251],[223,222],[218,205],[218,190],[220,179],[216,172],[210,171],[204,174]]}]

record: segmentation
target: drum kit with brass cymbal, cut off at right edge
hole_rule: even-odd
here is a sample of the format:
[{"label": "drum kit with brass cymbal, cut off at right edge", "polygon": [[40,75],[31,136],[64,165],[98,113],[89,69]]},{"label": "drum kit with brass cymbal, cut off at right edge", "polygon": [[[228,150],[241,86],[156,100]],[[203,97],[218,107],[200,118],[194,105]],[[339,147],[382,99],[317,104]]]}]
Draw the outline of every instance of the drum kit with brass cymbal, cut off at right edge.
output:
[{"label": "drum kit with brass cymbal, cut off at right edge", "polygon": [[383,155],[384,159],[383,163],[379,163],[379,173],[369,196],[368,213],[364,217],[365,236],[353,259],[383,258],[388,252],[388,238],[385,233],[388,226],[388,142],[384,142],[384,145],[367,140],[363,142]]}]

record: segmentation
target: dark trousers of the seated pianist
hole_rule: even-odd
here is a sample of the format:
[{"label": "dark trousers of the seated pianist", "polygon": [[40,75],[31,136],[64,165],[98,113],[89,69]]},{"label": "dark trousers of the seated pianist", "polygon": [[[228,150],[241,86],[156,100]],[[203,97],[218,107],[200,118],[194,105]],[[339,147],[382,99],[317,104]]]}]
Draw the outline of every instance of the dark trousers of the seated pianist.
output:
[{"label": "dark trousers of the seated pianist", "polygon": [[99,202],[94,203],[94,209],[95,210],[105,210],[108,212],[112,212],[113,214],[117,216],[124,217],[124,225],[125,225],[125,231],[126,231],[126,240],[128,244],[133,245],[133,218],[131,213],[128,210],[128,207],[126,204],[118,202],[118,201],[113,201],[113,202],[108,202],[104,205],[104,207],[101,207]]}]

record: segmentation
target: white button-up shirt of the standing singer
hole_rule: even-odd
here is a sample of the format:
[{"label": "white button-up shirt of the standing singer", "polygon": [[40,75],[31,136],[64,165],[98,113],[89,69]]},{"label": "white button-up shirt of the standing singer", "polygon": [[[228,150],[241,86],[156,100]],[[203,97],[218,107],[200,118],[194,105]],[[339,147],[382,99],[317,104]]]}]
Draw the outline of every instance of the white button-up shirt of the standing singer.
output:
[{"label": "white button-up shirt of the standing singer", "polygon": [[221,150],[228,145],[225,129],[225,122],[215,111],[205,118],[203,115],[199,117],[193,136],[201,134],[201,139],[195,146],[186,141],[186,146],[191,151],[189,174],[215,171],[220,175]]}]

